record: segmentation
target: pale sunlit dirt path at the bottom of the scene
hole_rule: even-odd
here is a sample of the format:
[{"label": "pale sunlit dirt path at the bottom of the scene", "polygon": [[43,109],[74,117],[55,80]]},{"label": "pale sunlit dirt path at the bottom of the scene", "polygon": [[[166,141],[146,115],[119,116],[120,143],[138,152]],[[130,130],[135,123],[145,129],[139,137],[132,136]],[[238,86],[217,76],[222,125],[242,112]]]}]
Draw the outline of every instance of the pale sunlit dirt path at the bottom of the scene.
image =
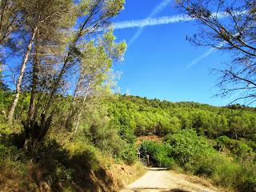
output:
[{"label": "pale sunlit dirt path at the bottom of the scene", "polygon": [[142,178],[120,192],[215,192],[219,191],[196,177],[174,171],[150,169]]}]

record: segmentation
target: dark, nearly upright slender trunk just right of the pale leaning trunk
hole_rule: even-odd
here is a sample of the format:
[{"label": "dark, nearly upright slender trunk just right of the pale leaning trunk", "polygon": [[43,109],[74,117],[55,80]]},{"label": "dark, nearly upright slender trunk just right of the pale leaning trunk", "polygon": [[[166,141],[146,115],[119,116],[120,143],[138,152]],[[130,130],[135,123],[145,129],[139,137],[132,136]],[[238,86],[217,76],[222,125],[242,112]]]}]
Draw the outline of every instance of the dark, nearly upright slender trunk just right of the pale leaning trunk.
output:
[{"label": "dark, nearly upright slender trunk just right of the pale leaning trunk", "polygon": [[39,48],[39,30],[37,31],[36,38],[35,38],[35,46],[34,46],[34,63],[33,63],[33,71],[32,71],[32,89],[31,89],[31,96],[30,96],[30,108],[29,108],[29,115],[28,120],[31,121],[34,119],[34,102],[36,96],[36,89],[38,83],[38,70],[39,70],[39,58],[38,58],[38,48]]}]

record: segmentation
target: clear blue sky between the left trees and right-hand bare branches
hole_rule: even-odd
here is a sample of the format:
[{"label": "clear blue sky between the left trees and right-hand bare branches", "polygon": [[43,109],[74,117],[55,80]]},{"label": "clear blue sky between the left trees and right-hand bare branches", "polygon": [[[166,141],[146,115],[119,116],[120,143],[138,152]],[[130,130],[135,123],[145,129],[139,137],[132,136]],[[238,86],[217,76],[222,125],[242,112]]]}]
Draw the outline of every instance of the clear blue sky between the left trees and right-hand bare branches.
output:
[{"label": "clear blue sky between the left trees and right-hand bare branches", "polygon": [[[161,6],[162,5],[162,6]],[[150,15],[151,14],[151,15]],[[122,10],[113,22],[142,20],[149,16],[161,18],[179,15],[174,1],[126,0]],[[164,25],[114,30],[117,41],[128,44],[124,62],[114,66],[122,71],[118,81],[122,94],[147,98],[166,99],[170,102],[202,102],[223,106],[232,98],[216,98],[218,76],[210,74],[212,68],[221,68],[230,61],[230,54],[213,52],[199,62],[193,62],[210,50],[209,47],[190,45],[186,35],[198,30],[197,22],[173,22]],[[134,36],[136,36],[134,38]],[[194,63],[194,64],[193,64]]]}]

